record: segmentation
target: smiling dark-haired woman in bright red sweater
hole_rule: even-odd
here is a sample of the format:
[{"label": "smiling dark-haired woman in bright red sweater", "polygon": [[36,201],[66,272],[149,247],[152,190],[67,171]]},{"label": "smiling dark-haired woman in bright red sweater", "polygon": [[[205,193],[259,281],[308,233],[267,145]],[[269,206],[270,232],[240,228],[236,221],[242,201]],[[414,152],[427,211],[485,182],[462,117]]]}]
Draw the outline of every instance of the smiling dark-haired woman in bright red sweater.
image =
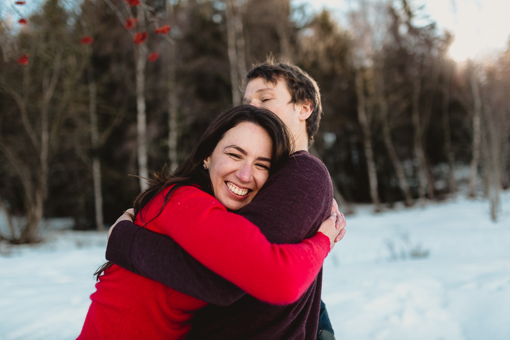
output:
[{"label": "smiling dark-haired woman in bright red sweater", "polygon": [[[258,299],[297,300],[334,244],[335,218],[311,239],[274,245],[257,226],[228,212],[251,201],[289,156],[292,140],[284,123],[266,109],[226,110],[179,168],[150,180],[135,200],[135,223],[168,234],[203,265]],[[80,339],[182,338],[193,311],[207,304],[115,265],[97,274]]]}]

